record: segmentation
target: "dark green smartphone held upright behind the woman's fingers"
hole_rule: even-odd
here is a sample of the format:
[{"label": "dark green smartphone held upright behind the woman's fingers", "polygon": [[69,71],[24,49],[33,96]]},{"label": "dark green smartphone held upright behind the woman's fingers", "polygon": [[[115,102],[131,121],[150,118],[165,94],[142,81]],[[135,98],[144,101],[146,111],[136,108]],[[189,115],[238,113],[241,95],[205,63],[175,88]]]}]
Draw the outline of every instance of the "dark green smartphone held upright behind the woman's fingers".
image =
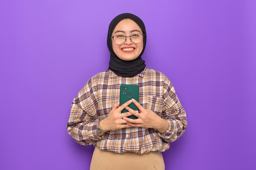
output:
[{"label": "dark green smartphone held upright behind the woman's fingers", "polygon": [[[121,85],[120,86],[120,106],[123,105],[128,100],[134,98],[139,102],[139,86],[138,85]],[[134,103],[128,105],[133,110],[139,110]],[[128,112],[126,109],[122,110],[121,113]],[[137,119],[137,116],[131,115],[128,116],[130,119]]]}]

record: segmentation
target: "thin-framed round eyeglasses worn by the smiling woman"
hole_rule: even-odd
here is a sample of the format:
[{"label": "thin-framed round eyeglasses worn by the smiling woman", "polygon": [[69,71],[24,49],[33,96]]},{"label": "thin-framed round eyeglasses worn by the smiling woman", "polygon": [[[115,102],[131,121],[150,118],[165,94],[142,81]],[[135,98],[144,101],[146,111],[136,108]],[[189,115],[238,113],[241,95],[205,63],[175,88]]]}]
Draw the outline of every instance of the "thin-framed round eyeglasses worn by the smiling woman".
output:
[{"label": "thin-framed round eyeglasses worn by the smiling woman", "polygon": [[146,34],[132,34],[131,36],[124,36],[124,35],[115,35],[110,38],[112,38],[117,45],[122,45],[126,42],[126,37],[130,37],[130,40],[134,44],[139,44],[143,41],[143,37]]}]

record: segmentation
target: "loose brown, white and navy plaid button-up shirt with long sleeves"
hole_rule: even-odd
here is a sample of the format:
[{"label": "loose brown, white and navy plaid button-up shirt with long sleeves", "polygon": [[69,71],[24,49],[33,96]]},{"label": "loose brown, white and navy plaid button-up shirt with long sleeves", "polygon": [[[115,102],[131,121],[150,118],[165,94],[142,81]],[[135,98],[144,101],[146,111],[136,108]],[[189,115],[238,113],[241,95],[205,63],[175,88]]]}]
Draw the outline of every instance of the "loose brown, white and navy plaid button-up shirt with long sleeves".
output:
[{"label": "loose brown, white and navy plaid button-up shirt with long sleeves", "polygon": [[[169,123],[166,133],[157,129],[131,127],[97,135],[97,123],[108,116],[119,102],[121,84],[139,85],[139,103]],[[168,78],[156,70],[145,68],[133,77],[117,76],[106,70],[90,78],[72,102],[67,131],[82,145],[98,146],[115,153],[165,151],[185,131],[186,113]]]}]

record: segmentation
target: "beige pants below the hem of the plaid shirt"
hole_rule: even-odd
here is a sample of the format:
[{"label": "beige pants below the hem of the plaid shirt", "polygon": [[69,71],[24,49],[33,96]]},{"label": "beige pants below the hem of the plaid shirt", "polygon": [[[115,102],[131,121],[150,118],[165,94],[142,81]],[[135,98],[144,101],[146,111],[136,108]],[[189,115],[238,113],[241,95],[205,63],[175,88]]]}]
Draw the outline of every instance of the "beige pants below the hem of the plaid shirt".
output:
[{"label": "beige pants below the hem of the plaid shirt", "polygon": [[92,155],[90,170],[164,170],[164,159],[159,151],[139,155],[113,153],[99,149]]}]

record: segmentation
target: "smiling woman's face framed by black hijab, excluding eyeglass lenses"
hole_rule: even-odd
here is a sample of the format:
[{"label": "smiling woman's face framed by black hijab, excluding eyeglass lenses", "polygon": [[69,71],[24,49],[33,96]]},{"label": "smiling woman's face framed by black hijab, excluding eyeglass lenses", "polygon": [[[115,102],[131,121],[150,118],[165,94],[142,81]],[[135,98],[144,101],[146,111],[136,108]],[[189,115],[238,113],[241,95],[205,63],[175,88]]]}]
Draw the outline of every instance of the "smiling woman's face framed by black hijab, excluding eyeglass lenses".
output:
[{"label": "smiling woman's face framed by black hijab, excluding eyeglass lenses", "polygon": [[[130,36],[135,33],[143,34],[141,28],[139,27],[138,24],[136,24],[136,22],[134,22],[131,19],[125,18],[124,20],[121,20],[117,24],[111,36],[115,36],[115,35]],[[124,44],[117,45],[112,39],[112,48],[115,54],[117,55],[117,57],[119,57],[119,59],[130,61],[139,57],[139,54],[143,50],[143,41],[139,44],[134,44],[131,41],[130,37],[126,37],[126,41]]]}]

